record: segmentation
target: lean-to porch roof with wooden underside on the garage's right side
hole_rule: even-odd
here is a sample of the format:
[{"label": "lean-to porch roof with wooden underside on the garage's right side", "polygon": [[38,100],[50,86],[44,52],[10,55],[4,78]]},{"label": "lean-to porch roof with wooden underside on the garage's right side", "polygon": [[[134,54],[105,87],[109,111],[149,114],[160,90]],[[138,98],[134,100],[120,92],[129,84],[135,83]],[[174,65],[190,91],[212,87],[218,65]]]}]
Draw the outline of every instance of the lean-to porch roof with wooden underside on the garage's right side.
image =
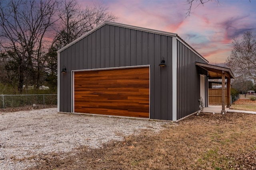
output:
[{"label": "lean-to porch roof with wooden underside on the garage's right side", "polygon": [[221,79],[222,71],[224,71],[226,78],[235,77],[232,71],[230,70],[230,68],[215,66],[215,65],[206,64],[206,63],[198,63],[198,62],[196,62],[196,65],[208,71],[209,79]]}]

